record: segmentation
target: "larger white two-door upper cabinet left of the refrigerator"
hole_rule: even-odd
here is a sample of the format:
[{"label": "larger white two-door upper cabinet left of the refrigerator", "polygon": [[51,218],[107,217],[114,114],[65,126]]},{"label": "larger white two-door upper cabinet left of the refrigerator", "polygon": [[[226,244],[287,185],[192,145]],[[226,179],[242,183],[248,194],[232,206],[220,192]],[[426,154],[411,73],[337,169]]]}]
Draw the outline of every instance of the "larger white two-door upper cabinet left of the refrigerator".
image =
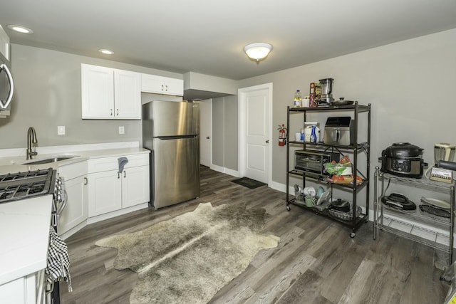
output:
[{"label": "larger white two-door upper cabinet left of the refrigerator", "polygon": [[81,64],[83,119],[141,119],[140,73]]}]

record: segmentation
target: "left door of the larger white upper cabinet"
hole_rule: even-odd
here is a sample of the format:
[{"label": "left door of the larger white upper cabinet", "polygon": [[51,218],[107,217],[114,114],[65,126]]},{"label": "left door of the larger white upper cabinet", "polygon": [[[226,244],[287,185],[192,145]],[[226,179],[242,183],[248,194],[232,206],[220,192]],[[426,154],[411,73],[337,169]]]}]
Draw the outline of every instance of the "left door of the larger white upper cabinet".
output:
[{"label": "left door of the larger white upper cabinet", "polygon": [[114,70],[81,65],[81,103],[83,118],[114,117]]}]

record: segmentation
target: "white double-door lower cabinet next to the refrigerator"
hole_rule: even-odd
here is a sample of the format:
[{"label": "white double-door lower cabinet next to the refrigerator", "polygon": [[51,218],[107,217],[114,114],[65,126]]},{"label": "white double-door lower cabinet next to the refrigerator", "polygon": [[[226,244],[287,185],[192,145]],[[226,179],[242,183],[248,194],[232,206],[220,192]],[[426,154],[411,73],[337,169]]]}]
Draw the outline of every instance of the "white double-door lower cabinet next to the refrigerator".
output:
[{"label": "white double-door lower cabinet next to the refrigerator", "polygon": [[123,172],[118,172],[118,157],[89,159],[89,218],[149,201],[149,154],[125,157]]}]

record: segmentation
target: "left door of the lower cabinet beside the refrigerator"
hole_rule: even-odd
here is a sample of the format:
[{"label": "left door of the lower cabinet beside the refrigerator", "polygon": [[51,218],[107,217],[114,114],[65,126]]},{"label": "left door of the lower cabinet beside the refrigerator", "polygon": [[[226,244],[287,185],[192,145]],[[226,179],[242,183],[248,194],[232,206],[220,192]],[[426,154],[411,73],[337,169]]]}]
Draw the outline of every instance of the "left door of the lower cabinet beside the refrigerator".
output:
[{"label": "left door of the lower cabinet beside the refrigerator", "polygon": [[122,208],[122,184],[117,171],[88,174],[88,216]]}]

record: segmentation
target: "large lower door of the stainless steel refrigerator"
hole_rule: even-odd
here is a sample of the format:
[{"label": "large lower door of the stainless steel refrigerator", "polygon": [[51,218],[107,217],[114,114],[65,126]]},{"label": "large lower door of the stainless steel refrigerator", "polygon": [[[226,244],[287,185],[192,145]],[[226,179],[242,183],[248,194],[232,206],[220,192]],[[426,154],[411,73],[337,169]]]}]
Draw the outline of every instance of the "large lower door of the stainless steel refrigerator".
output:
[{"label": "large lower door of the stainless steel refrigerator", "polygon": [[199,197],[199,137],[154,139],[150,201],[155,209]]}]

